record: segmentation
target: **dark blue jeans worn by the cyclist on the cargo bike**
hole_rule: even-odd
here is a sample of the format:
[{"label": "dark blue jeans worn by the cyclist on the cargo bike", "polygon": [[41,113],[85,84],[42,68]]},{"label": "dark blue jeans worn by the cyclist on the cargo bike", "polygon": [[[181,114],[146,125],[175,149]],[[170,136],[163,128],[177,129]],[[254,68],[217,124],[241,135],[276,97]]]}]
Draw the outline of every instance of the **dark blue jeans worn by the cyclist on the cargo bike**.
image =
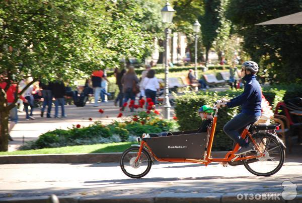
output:
[{"label": "dark blue jeans worn by the cyclist on the cargo bike", "polygon": [[239,113],[224,125],[223,131],[241,147],[247,146],[248,143],[241,138],[239,130],[241,131],[242,128],[245,128],[248,124],[256,122],[259,118],[260,116]]}]

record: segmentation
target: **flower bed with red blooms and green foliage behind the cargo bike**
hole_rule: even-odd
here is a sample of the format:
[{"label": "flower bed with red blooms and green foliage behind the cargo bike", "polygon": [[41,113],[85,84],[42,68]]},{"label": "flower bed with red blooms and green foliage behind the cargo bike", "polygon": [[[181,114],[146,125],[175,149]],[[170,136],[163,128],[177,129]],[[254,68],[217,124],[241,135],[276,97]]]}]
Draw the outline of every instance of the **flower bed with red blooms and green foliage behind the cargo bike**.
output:
[{"label": "flower bed with red blooms and green foliage behind the cargo bike", "polygon": [[[141,110],[131,117],[124,118],[122,121],[114,121],[109,125],[104,125],[99,121],[88,127],[74,124],[67,130],[55,129],[42,134],[38,140],[27,142],[20,150],[32,150],[54,147],[65,147],[75,145],[92,145],[99,143],[133,142],[142,133],[158,133],[162,131],[174,131],[178,129],[175,120],[163,119],[155,109],[153,102],[147,100],[147,110],[144,110],[145,101],[140,100],[135,107]],[[124,104],[124,107],[133,106],[132,101]],[[99,109],[100,113],[106,113]],[[123,109],[120,109],[117,117],[122,117]],[[89,118],[91,120],[91,118]]]}]

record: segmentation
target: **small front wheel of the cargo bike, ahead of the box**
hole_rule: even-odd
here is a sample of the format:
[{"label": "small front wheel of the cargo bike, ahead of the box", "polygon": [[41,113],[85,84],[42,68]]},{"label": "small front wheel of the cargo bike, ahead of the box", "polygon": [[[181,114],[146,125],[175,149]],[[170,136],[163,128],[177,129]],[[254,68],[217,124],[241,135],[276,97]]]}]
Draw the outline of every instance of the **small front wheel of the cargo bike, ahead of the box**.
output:
[{"label": "small front wheel of the cargo bike, ahead of the box", "polygon": [[152,160],[149,153],[142,149],[139,159],[135,162],[139,147],[125,150],[121,156],[120,167],[124,174],[130,178],[141,178],[151,169]]}]

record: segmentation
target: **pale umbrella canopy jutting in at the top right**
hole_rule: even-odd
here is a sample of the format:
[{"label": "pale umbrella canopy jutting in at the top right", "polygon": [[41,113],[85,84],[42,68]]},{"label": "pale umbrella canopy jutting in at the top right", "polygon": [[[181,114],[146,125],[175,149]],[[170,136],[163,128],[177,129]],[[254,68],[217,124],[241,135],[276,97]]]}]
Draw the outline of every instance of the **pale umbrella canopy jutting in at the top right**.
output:
[{"label": "pale umbrella canopy jutting in at the top right", "polygon": [[302,24],[302,12],[275,18],[270,21],[258,23],[256,25],[282,25],[282,24]]}]

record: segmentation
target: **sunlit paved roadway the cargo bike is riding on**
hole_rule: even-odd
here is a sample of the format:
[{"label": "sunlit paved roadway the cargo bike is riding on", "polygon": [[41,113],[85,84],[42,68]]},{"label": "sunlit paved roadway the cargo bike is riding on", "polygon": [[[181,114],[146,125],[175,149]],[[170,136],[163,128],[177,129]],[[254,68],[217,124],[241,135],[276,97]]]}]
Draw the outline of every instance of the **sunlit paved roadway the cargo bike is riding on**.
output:
[{"label": "sunlit paved roadway the cargo bike is riding on", "polygon": [[131,179],[118,163],[0,165],[0,201],[52,193],[114,198],[282,192],[284,180],[296,183],[302,194],[301,166],[301,158],[287,158],[277,174],[263,177],[252,175],[244,166],[156,163],[145,177]]}]

